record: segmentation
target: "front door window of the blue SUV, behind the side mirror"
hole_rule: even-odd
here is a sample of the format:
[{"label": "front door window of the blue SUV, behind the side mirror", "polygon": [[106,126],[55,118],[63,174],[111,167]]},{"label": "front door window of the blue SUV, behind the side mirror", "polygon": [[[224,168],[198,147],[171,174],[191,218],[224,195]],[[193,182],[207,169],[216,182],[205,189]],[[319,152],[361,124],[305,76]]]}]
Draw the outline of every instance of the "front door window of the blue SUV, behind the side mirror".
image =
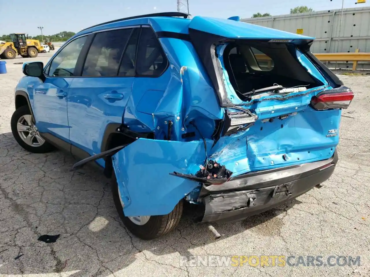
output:
[{"label": "front door window of the blue SUV, behind the side mirror", "polygon": [[60,77],[73,76],[78,56],[85,44],[86,38],[87,36],[77,38],[61,49],[50,64],[48,75]]}]

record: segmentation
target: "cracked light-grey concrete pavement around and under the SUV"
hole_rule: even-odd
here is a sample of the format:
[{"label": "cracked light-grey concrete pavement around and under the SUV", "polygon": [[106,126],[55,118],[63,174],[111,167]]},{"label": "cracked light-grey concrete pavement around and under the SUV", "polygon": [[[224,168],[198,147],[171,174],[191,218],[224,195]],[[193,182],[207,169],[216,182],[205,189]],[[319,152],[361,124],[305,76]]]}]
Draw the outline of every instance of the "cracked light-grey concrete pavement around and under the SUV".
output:
[{"label": "cracked light-grey concrete pavement around and under the SUV", "polygon": [[[0,276],[370,276],[370,76],[341,76],[355,98],[343,111],[339,164],[322,188],[271,211],[236,223],[191,222],[152,241],[132,236],[111,198],[110,181],[94,168],[72,171],[75,160],[60,151],[31,154],[10,131],[14,87],[22,65],[7,60],[0,75]],[[60,234],[55,243],[37,240]],[[20,256],[22,255],[23,256]],[[192,267],[191,255],[361,256],[361,266]],[[18,259],[16,257],[20,256]]]}]

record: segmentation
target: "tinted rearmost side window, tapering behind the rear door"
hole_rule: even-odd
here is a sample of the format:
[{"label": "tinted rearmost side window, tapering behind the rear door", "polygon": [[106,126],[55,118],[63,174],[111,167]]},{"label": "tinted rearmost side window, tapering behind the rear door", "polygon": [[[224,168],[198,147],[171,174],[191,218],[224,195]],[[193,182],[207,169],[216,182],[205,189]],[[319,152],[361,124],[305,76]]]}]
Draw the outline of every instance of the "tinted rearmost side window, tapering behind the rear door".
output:
[{"label": "tinted rearmost side window, tapering behind the rear door", "polygon": [[136,62],[136,73],[139,76],[159,76],[167,67],[167,59],[158,41],[157,36],[151,28],[142,28],[138,57]]}]

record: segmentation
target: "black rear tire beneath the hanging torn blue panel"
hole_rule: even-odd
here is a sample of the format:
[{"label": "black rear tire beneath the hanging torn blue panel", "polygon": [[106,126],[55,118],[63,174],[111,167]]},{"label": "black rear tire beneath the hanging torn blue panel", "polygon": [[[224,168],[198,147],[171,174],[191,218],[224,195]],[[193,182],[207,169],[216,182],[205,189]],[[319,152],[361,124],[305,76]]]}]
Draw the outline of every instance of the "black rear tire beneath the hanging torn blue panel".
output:
[{"label": "black rear tire beneath the hanging torn blue panel", "polygon": [[112,194],[114,205],[122,222],[132,234],[140,239],[151,240],[163,236],[171,232],[180,222],[183,208],[182,199],[168,215],[150,216],[149,220],[143,225],[134,223],[129,217],[124,215],[114,172],[112,174]]}]

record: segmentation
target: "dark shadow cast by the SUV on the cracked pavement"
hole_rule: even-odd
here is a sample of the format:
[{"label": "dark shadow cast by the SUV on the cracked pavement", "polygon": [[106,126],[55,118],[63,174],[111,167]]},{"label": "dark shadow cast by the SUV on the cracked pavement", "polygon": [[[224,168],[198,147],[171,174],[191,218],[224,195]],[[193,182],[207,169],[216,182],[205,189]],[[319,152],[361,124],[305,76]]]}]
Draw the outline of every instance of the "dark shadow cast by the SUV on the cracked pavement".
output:
[{"label": "dark shadow cast by the SUV on the cracked pavement", "polygon": [[[0,134],[0,274],[63,272],[66,276],[104,277],[137,259],[156,261],[156,256],[173,253],[175,258],[168,264],[181,268],[181,256],[191,256],[198,247],[246,230],[256,236],[279,235],[281,214],[300,204],[293,200],[239,222],[215,223],[221,234],[218,240],[206,225],[194,223],[202,215],[202,207],[187,204],[171,233],[145,241],[122,224],[112,201],[110,180],[95,167],[72,170],[74,163],[73,157],[57,150],[28,153],[11,133]],[[38,240],[41,235],[58,234],[55,243]]]}]

